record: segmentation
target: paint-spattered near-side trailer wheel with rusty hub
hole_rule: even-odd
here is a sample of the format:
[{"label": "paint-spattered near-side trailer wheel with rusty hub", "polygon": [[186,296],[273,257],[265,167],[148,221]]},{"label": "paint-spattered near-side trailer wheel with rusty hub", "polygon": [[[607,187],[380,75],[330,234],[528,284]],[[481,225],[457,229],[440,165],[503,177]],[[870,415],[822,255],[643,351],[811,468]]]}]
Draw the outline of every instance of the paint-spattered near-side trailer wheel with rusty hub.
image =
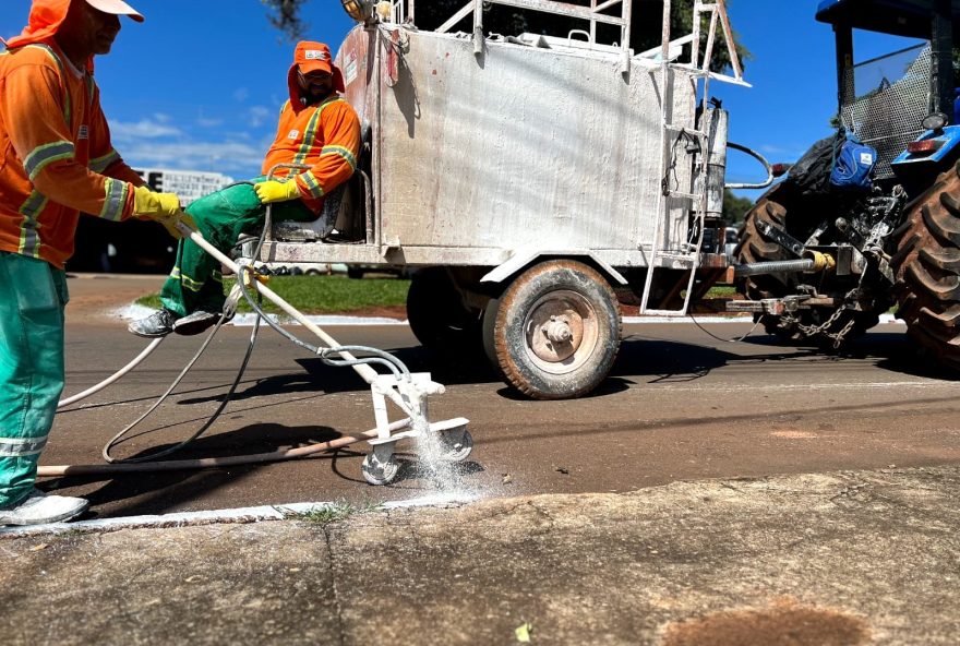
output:
[{"label": "paint-spattered near-side trailer wheel with rusty hub", "polygon": [[591,267],[553,260],[520,274],[487,321],[507,383],[535,399],[579,397],[602,382],[620,350],[616,296]]}]

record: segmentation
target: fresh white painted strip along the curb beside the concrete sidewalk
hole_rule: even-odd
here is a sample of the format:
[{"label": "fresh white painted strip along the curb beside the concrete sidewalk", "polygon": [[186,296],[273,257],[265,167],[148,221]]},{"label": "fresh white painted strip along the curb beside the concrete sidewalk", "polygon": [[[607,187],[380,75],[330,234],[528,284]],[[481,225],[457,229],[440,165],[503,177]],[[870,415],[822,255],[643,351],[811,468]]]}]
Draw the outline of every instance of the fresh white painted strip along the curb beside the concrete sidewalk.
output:
[{"label": "fresh white painted strip along the curb beside the concrete sidewalk", "polygon": [[[457,506],[477,500],[476,494],[461,492],[437,493],[411,500],[385,502],[382,510],[424,506]],[[218,525],[228,523],[260,523],[264,521],[284,521],[290,517],[322,511],[337,506],[333,502],[295,502],[289,504],[240,507],[235,510],[212,510],[206,512],[181,512],[177,514],[159,514],[145,516],[125,516],[120,518],[103,518],[77,521],[75,523],[50,523],[49,525],[32,525],[26,527],[0,527],[0,539],[24,538],[29,536],[57,535],[65,531],[117,531],[119,529],[164,529],[169,527],[188,527],[192,525]]]}]

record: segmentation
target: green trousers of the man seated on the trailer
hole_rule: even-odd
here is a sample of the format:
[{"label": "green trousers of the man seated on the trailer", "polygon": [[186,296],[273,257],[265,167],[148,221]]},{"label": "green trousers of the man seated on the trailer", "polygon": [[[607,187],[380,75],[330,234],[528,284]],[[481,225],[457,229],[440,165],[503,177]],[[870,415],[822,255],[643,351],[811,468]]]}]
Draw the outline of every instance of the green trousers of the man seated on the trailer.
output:
[{"label": "green trousers of the man seated on the trailer", "polygon": [[[256,178],[251,182],[262,181]],[[240,234],[263,222],[266,206],[261,204],[252,183],[229,186],[205,195],[187,207],[204,239],[226,255],[240,238]],[[275,220],[293,219],[308,222],[316,214],[300,200],[277,202],[273,205]],[[180,240],[173,271],[160,289],[160,302],[181,316],[196,310],[219,312],[224,309],[220,263],[192,240]]]}]

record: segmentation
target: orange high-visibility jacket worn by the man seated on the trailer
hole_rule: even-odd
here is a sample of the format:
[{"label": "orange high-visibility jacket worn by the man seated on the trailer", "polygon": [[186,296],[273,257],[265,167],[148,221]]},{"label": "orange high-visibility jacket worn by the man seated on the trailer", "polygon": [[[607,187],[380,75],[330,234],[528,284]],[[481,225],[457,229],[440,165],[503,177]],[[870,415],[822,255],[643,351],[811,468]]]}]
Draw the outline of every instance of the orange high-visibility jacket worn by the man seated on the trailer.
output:
[{"label": "orange high-visibility jacket worn by the man seated on the trailer", "polygon": [[[299,108],[299,109],[298,109]],[[350,179],[360,152],[360,120],[338,94],[315,106],[286,101],[280,109],[277,137],[263,160],[263,175],[276,164],[310,166],[297,175],[300,196],[314,213],[323,207],[323,195]],[[289,170],[277,171],[286,177]]]}]

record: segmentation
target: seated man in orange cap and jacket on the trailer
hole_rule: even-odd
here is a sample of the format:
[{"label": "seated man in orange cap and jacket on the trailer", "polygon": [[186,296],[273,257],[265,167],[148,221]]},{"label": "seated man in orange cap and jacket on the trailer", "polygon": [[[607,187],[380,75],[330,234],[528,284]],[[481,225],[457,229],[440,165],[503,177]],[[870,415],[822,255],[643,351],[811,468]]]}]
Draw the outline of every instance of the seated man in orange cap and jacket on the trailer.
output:
[{"label": "seated man in orange cap and jacket on the trailer", "polygon": [[[263,222],[267,204],[274,204],[274,219],[315,219],[324,195],[350,179],[357,167],[360,120],[339,94],[345,89],[344,75],[333,64],[329,48],[322,43],[299,43],[287,86],[290,99],[280,109],[277,136],[261,172],[266,176],[277,164],[302,164],[310,169],[284,169],[277,171],[278,180],[262,176],[233,184],[187,208],[203,237],[226,254],[243,230]],[[184,239],[160,289],[161,309],[129,328],[146,337],[199,334],[219,320],[225,300],[219,261]]]}]

